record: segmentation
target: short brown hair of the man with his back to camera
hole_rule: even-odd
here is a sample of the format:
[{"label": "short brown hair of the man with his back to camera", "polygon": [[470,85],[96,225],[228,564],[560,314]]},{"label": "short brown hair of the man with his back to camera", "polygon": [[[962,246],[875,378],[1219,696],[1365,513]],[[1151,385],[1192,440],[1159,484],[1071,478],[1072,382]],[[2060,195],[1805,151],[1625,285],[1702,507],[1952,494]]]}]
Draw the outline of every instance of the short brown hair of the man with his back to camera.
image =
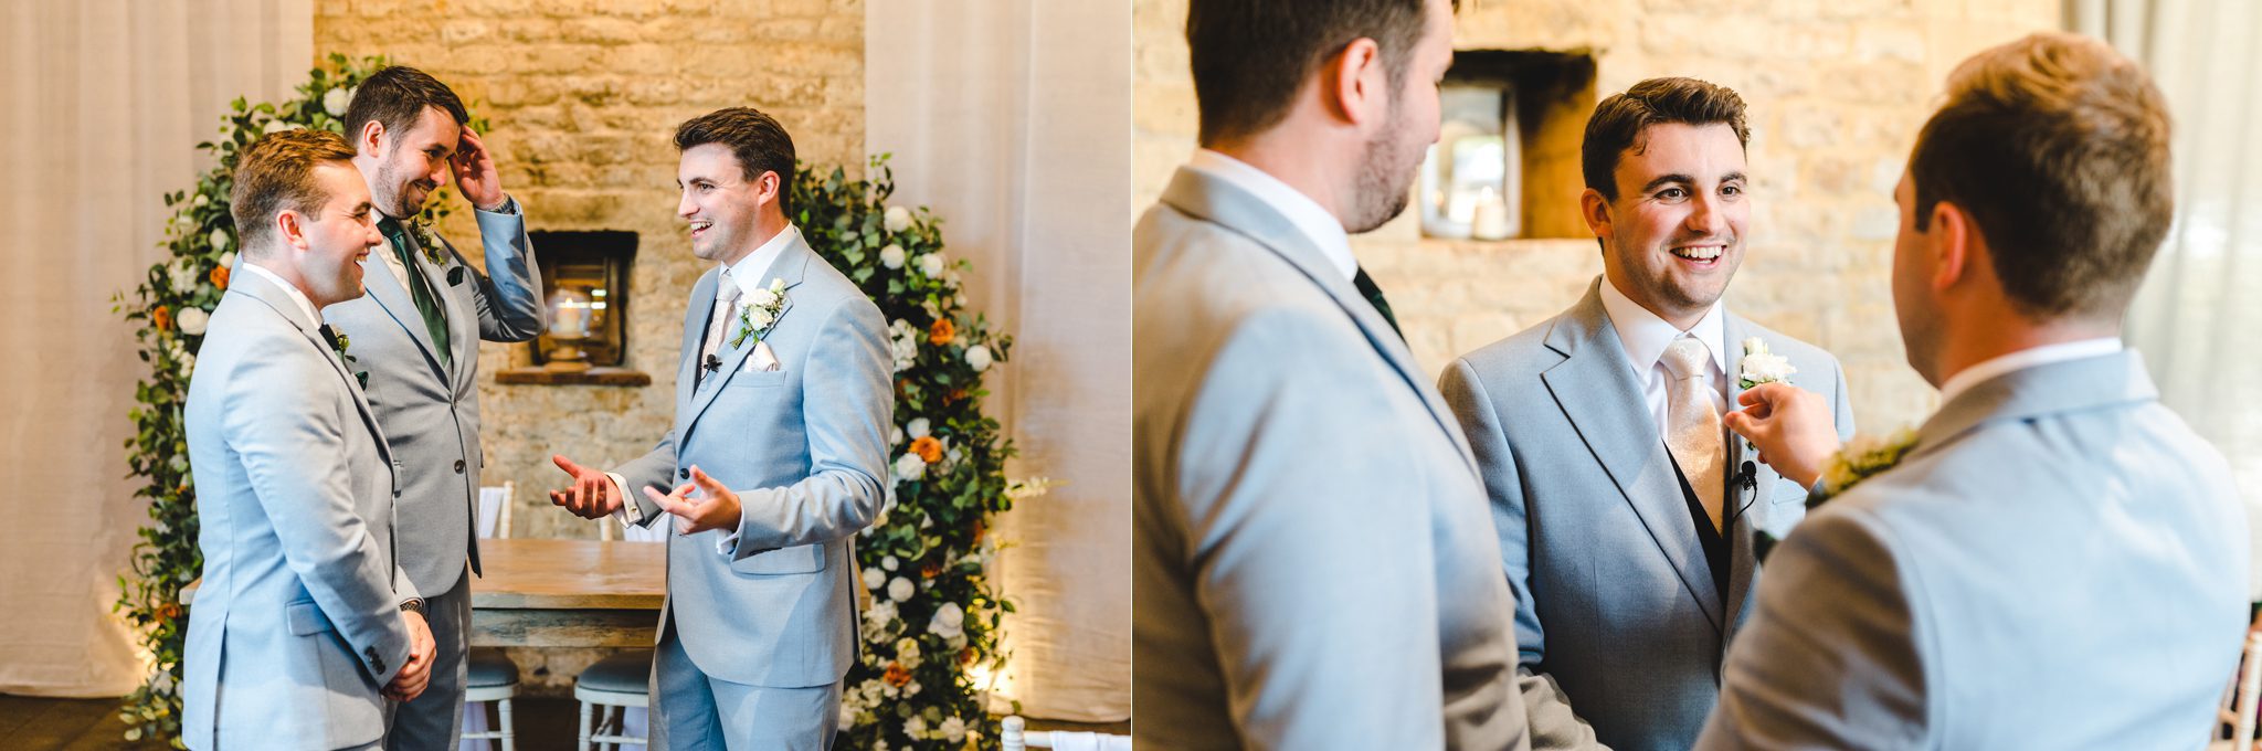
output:
[{"label": "short brown hair of the man with his back to camera", "polygon": [[2022,314],[2119,317],[2176,213],[2167,138],[2151,77],[2101,41],[2034,34],[1979,52],[1916,136],[1916,228],[1957,204]]}]

